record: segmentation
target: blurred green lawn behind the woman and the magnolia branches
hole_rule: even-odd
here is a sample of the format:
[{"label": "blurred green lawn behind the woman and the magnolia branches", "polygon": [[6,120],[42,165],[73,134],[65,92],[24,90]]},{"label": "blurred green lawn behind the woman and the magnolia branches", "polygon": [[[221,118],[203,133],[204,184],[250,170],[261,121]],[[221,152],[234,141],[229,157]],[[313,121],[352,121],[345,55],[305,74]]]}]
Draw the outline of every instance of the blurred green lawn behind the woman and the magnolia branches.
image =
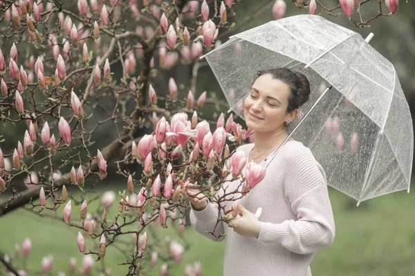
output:
[{"label": "blurred green lawn behind the woman and the magnolia branches", "polygon": [[[407,195],[403,191],[365,201],[356,207],[356,202],[330,189],[335,215],[335,242],[330,248],[317,253],[311,263],[313,275],[414,275],[414,197],[413,193]],[[96,204],[89,204],[89,208],[95,210]],[[113,206],[112,212],[116,212],[116,206]],[[79,206],[73,206],[74,221],[78,213]],[[62,215],[62,210],[57,214]],[[133,228],[138,228],[138,224]],[[27,261],[30,270],[39,271],[42,257],[49,253],[54,257],[55,272],[68,271],[71,257],[76,257],[78,266],[81,266],[83,255],[77,249],[77,229],[66,226],[63,221],[39,217],[27,210],[17,210],[0,218],[0,229],[0,250],[9,255],[13,255],[15,243],[21,244],[26,237],[30,237],[33,243]],[[164,237],[168,235],[184,244],[178,234],[174,233],[175,228],[159,229],[156,231],[157,237],[149,235],[149,243],[155,242],[159,248],[165,248]],[[182,235],[192,246],[186,251],[179,266],[169,262],[171,275],[183,275],[185,265],[196,261],[201,262],[203,275],[221,275],[225,243],[212,242],[191,227]],[[87,235],[84,237],[89,250],[93,242],[89,241]],[[131,243],[130,235],[121,239],[127,244]],[[151,248],[148,253],[151,253]],[[166,252],[159,254],[166,256]],[[117,265],[125,259],[119,250],[111,246],[107,248],[104,262],[111,268],[111,275],[125,275],[126,266]],[[21,261],[18,260],[16,264],[21,266]],[[158,268],[160,264],[159,261]],[[100,268],[100,265],[95,263],[94,268]],[[145,275],[158,275],[158,271],[147,270]]]}]

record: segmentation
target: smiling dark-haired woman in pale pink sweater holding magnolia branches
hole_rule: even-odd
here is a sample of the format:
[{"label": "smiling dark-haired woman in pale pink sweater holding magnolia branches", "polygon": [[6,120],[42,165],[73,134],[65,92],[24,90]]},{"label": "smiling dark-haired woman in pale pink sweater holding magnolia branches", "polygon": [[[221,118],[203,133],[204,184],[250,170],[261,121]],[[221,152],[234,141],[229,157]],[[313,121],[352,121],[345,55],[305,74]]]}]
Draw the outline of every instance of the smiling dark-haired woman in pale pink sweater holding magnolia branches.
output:
[{"label": "smiling dark-haired woman in pale pink sweater holding magnolia branches", "polygon": [[[255,142],[237,149],[246,153],[248,163],[264,164],[282,145],[288,137],[287,125],[309,95],[310,84],[299,72],[276,68],[257,73],[243,111]],[[220,198],[226,190],[227,201],[222,201],[221,207],[232,206],[238,197],[229,192],[238,189],[240,180],[223,184],[216,193]],[[333,243],[335,226],[326,175],[299,141],[291,139],[282,146],[268,165],[265,178],[237,200],[235,218],[229,224],[217,222],[216,202],[211,203],[198,190],[189,190],[189,194],[192,226],[214,241],[226,239],[225,276],[309,276],[316,251]],[[259,207],[262,213],[258,219],[253,212]]]}]

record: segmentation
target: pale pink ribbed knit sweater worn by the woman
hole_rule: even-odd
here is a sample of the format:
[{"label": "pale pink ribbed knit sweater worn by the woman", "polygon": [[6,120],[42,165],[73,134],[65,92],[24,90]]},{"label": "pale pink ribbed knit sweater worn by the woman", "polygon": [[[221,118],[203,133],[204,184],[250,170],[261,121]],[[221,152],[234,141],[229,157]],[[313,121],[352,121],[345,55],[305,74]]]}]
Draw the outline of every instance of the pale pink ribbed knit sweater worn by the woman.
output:
[{"label": "pale pink ribbed knit sweater worn by the woman", "polygon": [[[245,144],[237,150],[248,157],[253,146]],[[229,193],[238,186],[240,191],[239,184],[240,180],[225,182],[216,195],[223,195],[223,189]],[[271,161],[265,178],[238,200],[252,213],[262,208],[258,239],[239,235],[222,222],[214,229],[219,215],[216,203],[190,212],[196,231],[215,242],[226,240],[223,275],[310,276],[316,251],[329,247],[335,235],[326,175],[311,151],[299,141],[288,141]],[[227,209],[232,203],[225,201],[221,206]],[[216,239],[206,231],[221,236]]]}]

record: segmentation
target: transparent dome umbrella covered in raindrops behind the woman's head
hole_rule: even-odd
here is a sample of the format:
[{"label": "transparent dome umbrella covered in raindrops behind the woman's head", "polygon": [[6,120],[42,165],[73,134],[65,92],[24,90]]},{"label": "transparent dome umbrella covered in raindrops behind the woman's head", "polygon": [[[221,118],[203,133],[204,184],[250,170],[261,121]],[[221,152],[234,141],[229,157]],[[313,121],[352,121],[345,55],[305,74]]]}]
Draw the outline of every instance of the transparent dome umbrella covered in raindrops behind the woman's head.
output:
[{"label": "transparent dome umbrella covered in raindrops behind the woman's head", "polygon": [[203,57],[230,110],[242,118],[258,70],[286,67],[306,75],[310,100],[291,123],[290,137],[311,149],[329,186],[359,204],[409,193],[414,148],[396,70],[369,45],[371,36],[365,40],[323,17],[298,15],[234,35]]}]

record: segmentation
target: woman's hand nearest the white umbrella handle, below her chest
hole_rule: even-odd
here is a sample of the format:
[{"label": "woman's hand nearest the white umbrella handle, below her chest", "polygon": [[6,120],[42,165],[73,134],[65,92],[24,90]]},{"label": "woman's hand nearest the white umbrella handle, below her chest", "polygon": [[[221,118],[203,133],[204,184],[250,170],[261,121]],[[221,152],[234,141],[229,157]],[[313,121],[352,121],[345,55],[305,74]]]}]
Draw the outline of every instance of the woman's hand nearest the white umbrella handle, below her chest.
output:
[{"label": "woman's hand nearest the white umbrella handle, below her chest", "polygon": [[[260,210],[257,213],[260,215]],[[228,225],[239,235],[258,238],[259,231],[261,230],[261,222],[258,219],[259,215],[250,213],[241,204],[235,202],[232,213],[234,219],[230,220]]]}]

